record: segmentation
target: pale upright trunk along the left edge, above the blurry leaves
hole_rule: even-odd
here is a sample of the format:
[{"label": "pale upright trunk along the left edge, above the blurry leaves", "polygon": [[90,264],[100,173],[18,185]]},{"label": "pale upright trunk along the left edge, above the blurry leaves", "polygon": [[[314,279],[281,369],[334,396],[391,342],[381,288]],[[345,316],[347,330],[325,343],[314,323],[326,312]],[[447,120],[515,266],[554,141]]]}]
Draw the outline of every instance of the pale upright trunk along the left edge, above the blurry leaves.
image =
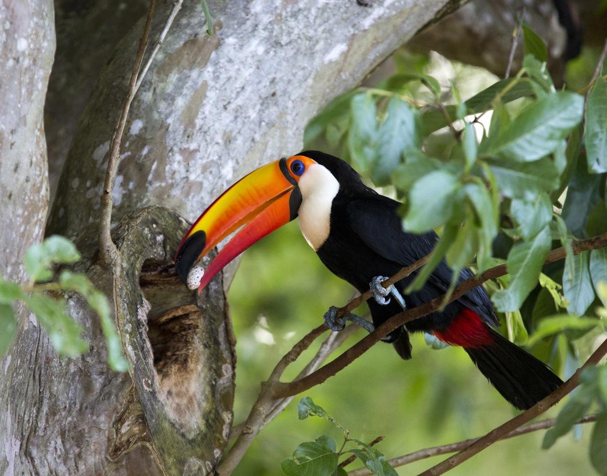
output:
[{"label": "pale upright trunk along the left edge, above the blurry leaves", "polygon": [[19,282],[49,203],[42,106],[54,53],[52,0],[0,4],[0,274]]}]

